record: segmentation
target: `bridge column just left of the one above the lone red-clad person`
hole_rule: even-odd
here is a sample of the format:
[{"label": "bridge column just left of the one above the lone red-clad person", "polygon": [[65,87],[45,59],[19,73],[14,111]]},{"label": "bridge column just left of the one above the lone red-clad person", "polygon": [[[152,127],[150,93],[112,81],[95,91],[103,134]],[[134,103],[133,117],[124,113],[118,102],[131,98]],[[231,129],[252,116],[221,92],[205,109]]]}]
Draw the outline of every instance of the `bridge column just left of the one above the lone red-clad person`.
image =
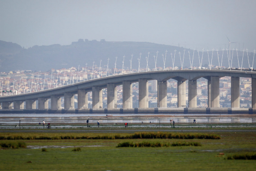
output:
[{"label": "bridge column just left of the one above the lone red-clad person", "polygon": [[107,84],[107,109],[117,108],[117,87],[114,83]]}]

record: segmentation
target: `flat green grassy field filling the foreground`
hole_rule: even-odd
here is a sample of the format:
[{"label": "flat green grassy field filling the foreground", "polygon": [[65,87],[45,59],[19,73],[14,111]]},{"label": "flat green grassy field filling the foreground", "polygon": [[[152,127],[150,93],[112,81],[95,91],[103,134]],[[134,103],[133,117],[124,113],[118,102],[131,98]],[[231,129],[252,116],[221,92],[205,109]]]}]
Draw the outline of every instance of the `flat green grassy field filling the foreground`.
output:
[{"label": "flat green grassy field filling the foreground", "polygon": [[[126,136],[130,133],[2,132],[0,136],[114,134]],[[221,139],[1,140],[0,143],[25,142],[27,148],[1,149],[0,170],[255,170],[255,160],[227,160],[227,156],[255,152],[256,132],[221,131],[214,134]],[[124,142],[198,142],[202,146],[117,148]],[[81,151],[72,151],[77,147]],[[47,151],[42,152],[42,148]]]}]

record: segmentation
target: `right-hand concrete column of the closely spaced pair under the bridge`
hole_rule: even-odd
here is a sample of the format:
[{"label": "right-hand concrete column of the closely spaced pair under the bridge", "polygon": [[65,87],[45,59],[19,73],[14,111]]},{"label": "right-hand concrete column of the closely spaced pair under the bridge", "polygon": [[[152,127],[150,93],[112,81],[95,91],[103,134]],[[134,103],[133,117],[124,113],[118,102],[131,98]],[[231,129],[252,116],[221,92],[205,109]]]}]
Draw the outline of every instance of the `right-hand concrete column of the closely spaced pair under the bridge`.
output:
[{"label": "right-hand concrete column of the closely spaced pair under the bridge", "polygon": [[197,107],[197,80],[188,81],[188,107]]}]

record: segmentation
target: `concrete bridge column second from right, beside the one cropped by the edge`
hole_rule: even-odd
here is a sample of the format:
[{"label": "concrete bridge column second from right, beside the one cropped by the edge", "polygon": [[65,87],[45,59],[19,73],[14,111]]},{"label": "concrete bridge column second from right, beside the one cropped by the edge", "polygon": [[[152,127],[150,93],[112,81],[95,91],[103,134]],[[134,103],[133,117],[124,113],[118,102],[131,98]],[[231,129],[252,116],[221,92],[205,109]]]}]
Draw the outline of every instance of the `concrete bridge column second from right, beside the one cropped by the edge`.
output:
[{"label": "concrete bridge column second from right, beside the one cropped by the edge", "polygon": [[240,79],[231,77],[231,107],[240,107]]}]

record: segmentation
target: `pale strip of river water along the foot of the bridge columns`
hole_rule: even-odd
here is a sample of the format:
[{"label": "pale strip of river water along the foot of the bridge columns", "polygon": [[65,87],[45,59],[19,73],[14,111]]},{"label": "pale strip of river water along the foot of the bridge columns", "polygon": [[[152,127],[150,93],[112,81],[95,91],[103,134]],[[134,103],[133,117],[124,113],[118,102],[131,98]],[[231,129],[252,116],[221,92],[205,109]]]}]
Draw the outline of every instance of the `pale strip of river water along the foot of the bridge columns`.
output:
[{"label": "pale strip of river water along the foot of the bridge columns", "polygon": [[138,115],[138,114],[113,114],[106,117],[106,114],[0,114],[0,126],[19,124],[45,123],[170,123],[173,119],[175,123],[256,123],[256,116],[242,115]]}]

